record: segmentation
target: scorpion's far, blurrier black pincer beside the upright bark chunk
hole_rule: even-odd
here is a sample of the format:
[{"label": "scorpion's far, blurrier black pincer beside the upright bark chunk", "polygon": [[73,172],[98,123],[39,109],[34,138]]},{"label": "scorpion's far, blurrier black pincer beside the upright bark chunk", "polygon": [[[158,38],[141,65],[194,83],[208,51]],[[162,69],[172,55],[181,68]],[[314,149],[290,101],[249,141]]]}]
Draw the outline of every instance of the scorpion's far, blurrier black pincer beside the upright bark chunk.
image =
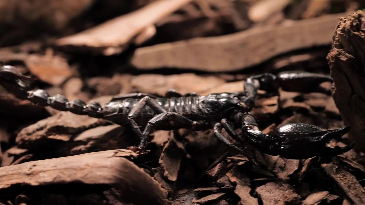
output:
[{"label": "scorpion's far, blurrier black pincer beside the upright bark chunk", "polygon": [[282,72],[277,75],[279,86],[289,92],[319,92],[331,94],[331,91],[320,86],[323,82],[333,82],[330,76],[318,73]]}]

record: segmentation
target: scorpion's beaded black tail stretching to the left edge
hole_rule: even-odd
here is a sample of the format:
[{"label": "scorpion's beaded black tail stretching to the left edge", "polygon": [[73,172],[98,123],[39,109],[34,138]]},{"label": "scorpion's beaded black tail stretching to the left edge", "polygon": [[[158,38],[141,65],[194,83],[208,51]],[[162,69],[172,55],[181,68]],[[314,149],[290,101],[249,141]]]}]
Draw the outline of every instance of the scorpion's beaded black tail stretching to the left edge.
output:
[{"label": "scorpion's beaded black tail stretching to the left edge", "polygon": [[69,101],[60,94],[50,96],[46,90],[32,90],[27,84],[29,80],[31,80],[31,77],[24,76],[14,66],[5,65],[0,67],[0,85],[15,94],[16,97],[27,99],[42,107],[50,106],[59,111],[70,111],[77,115],[88,115],[95,118],[103,117],[102,107],[99,103],[93,102],[87,105],[82,100]]}]

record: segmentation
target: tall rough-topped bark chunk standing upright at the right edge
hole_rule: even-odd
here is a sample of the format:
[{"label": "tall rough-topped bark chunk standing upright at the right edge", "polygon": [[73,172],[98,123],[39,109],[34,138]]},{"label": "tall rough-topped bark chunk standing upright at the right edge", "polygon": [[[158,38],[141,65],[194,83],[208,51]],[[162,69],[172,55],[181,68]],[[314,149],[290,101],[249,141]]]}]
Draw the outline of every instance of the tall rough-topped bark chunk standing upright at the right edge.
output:
[{"label": "tall rough-topped bark chunk standing upright at the right edge", "polygon": [[356,147],[365,150],[365,14],[357,11],[341,18],[333,35],[333,46],[327,55],[334,80],[332,95]]}]

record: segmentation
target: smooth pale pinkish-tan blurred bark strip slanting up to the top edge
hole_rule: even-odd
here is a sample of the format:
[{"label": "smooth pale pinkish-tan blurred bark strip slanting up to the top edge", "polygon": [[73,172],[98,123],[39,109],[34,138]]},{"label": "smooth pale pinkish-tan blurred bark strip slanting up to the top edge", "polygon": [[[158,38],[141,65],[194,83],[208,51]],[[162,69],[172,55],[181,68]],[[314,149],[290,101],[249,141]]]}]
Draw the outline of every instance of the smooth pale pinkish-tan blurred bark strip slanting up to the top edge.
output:
[{"label": "smooth pale pinkish-tan blurred bark strip slanting up to the top edge", "polygon": [[[141,43],[139,34],[145,35],[143,31],[156,23],[161,18],[176,11],[191,0],[158,0],[137,11],[108,20],[78,34],[58,39],[58,46],[81,47],[97,51],[103,55],[114,55],[121,53],[136,38]],[[147,38],[143,38],[147,39]]]}]

